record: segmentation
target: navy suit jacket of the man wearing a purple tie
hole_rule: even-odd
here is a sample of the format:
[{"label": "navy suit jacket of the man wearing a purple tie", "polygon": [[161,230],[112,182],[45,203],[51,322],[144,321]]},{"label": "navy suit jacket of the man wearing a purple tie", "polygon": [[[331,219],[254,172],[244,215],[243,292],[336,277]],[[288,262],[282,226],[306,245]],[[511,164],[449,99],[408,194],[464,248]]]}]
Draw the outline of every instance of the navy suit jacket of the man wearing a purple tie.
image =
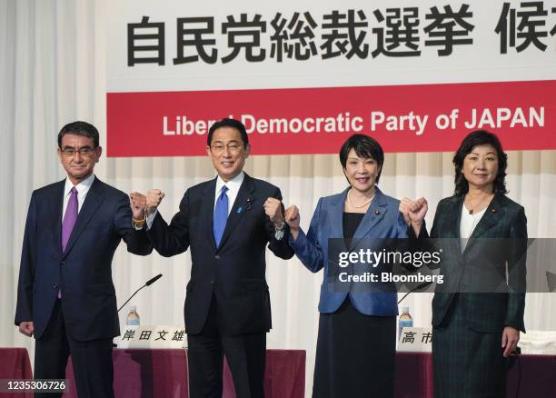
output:
[{"label": "navy suit jacket of the man wearing a purple tie", "polygon": [[133,233],[127,194],[94,182],[62,253],[65,180],[35,190],[25,224],[15,324],[33,321],[41,337],[62,289],[65,327],[75,340],[120,333],[112,282],[112,258],[120,241],[134,254],[150,254],[144,236]]}]

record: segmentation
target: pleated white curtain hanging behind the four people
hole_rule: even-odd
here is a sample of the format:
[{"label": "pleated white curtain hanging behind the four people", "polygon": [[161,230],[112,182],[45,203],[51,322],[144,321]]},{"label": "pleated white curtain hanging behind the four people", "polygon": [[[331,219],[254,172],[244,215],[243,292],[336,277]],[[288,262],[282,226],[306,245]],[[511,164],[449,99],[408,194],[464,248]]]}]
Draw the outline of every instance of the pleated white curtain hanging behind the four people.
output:
[{"label": "pleated white curtain hanging behind the four people", "polygon": [[[55,152],[61,125],[89,121],[99,128],[101,144],[106,142],[107,4],[106,0],[0,0],[0,322],[4,324],[0,344],[25,346],[31,354],[32,340],[14,326],[25,214],[35,188],[65,176]],[[525,206],[530,236],[556,237],[556,151],[509,155],[509,195]],[[177,210],[186,187],[213,176],[207,158],[103,157],[95,172],[125,192],[163,189],[161,212],[167,219]],[[280,186],[285,204],[300,207],[303,227],[309,224],[318,198],[337,193],[346,184],[335,155],[253,156],[246,172]],[[387,154],[380,186],[398,198],[427,197],[430,224],[438,201],[452,194],[452,178],[452,154]],[[119,302],[162,273],[164,278],[134,298],[134,304],[144,324],[183,323],[190,266],[189,254],[141,258],[127,254],[122,245],[113,272]],[[269,255],[267,279],[273,304],[268,346],[307,350],[310,396],[322,274],[311,274],[296,259],[284,262]],[[430,324],[430,294],[415,294],[407,303],[416,326]],[[554,313],[555,294],[528,295],[528,329],[556,330]]]}]

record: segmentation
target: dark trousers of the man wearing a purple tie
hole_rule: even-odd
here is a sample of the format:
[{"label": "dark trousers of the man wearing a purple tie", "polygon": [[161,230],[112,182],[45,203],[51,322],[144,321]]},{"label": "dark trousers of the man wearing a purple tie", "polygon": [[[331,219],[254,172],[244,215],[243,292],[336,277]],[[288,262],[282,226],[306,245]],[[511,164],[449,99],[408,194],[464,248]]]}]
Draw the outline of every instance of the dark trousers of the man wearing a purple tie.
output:
[{"label": "dark trousers of the man wearing a purple tie", "polygon": [[[70,353],[79,398],[113,398],[112,339],[74,340],[65,331],[62,303],[56,300],[45,333],[35,342],[35,379],[64,379]],[[62,393],[35,393],[35,398],[55,396]]]}]

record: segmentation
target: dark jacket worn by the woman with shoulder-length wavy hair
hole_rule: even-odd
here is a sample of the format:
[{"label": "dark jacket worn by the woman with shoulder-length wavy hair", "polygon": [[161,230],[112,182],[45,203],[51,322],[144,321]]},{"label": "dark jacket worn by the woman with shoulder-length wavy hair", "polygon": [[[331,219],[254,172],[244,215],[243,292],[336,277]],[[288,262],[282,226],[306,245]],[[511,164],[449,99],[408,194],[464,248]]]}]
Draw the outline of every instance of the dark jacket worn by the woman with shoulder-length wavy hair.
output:
[{"label": "dark jacket worn by the woman with shoulder-length wavy hair", "polygon": [[[462,253],[462,204],[463,195],[444,198],[434,215],[431,237],[442,238],[439,243],[444,249],[441,273],[448,293],[434,294],[432,325],[442,323],[454,291],[477,292],[477,286],[481,286],[480,292],[490,293],[460,294],[458,303],[465,308],[466,323],[478,332],[500,333],[506,325],[525,332],[527,219],[524,209],[504,194],[495,194]],[[500,284],[501,280],[505,282],[506,267],[508,285],[518,293],[511,293],[507,285]]]}]

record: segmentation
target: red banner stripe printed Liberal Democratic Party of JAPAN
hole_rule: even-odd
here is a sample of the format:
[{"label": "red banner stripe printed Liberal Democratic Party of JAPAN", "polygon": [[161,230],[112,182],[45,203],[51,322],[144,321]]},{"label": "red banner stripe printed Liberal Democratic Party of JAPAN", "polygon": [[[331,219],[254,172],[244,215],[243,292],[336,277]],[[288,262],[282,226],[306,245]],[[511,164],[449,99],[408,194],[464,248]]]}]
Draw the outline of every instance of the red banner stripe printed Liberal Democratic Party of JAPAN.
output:
[{"label": "red banner stripe printed Liberal Democratic Party of JAPAN", "polygon": [[355,133],[386,152],[453,152],[476,129],[506,150],[556,149],[555,93],[554,80],[108,93],[107,154],[204,155],[209,124],[230,115],[252,154],[336,154]]}]

